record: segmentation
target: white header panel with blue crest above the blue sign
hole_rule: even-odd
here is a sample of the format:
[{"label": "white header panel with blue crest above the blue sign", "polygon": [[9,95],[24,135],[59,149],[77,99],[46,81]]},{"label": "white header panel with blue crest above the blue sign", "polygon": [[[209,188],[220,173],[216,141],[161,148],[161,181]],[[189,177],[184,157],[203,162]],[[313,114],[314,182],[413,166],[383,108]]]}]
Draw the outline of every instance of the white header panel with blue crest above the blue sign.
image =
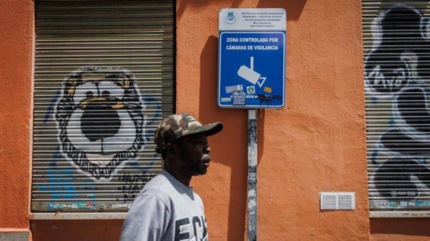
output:
[{"label": "white header panel with blue crest above the blue sign", "polygon": [[223,8],[219,30],[285,31],[287,13],[283,8]]}]

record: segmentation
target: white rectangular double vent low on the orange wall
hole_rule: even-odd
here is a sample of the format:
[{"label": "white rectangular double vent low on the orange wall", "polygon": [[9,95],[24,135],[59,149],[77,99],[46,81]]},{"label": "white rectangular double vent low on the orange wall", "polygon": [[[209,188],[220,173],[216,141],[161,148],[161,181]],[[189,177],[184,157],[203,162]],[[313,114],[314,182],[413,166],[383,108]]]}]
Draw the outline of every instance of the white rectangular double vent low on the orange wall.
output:
[{"label": "white rectangular double vent low on the orange wall", "polygon": [[320,192],[320,209],[354,210],[356,209],[356,193]]}]

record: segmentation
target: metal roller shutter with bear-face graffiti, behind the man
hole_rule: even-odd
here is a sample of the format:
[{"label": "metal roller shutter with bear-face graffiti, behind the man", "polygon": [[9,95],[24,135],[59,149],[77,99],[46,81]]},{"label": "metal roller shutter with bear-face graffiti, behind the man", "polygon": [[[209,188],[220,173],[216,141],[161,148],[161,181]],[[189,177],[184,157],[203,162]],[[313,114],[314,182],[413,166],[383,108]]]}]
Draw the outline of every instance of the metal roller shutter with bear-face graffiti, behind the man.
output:
[{"label": "metal roller shutter with bear-face graffiti, behind the man", "polygon": [[37,0],[31,210],[127,211],[174,112],[174,1]]}]

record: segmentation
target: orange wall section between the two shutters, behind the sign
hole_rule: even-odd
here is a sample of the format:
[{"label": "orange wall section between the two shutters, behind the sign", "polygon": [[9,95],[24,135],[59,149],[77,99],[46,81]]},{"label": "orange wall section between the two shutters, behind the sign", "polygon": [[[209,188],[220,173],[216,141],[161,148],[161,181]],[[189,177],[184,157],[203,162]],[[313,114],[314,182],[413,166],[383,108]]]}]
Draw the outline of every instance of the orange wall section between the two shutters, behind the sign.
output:
[{"label": "orange wall section between the two shutters, behind the sign", "polygon": [[[218,10],[287,10],[287,105],[258,112],[258,239],[369,240],[360,1],[178,1],[178,110],[225,129],[193,185],[213,240],[246,235],[247,112],[216,105]],[[355,191],[355,211],[320,211]]]}]

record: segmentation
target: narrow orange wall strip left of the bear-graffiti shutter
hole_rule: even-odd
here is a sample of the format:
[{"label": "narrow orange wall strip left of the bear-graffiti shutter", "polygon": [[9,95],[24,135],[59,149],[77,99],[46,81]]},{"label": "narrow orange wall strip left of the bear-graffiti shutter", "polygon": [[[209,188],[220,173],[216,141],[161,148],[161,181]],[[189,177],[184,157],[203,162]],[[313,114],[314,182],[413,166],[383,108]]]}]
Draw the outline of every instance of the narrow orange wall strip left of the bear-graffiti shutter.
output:
[{"label": "narrow orange wall strip left of the bear-graffiti shutter", "polygon": [[0,229],[28,229],[33,2],[0,11]]}]

